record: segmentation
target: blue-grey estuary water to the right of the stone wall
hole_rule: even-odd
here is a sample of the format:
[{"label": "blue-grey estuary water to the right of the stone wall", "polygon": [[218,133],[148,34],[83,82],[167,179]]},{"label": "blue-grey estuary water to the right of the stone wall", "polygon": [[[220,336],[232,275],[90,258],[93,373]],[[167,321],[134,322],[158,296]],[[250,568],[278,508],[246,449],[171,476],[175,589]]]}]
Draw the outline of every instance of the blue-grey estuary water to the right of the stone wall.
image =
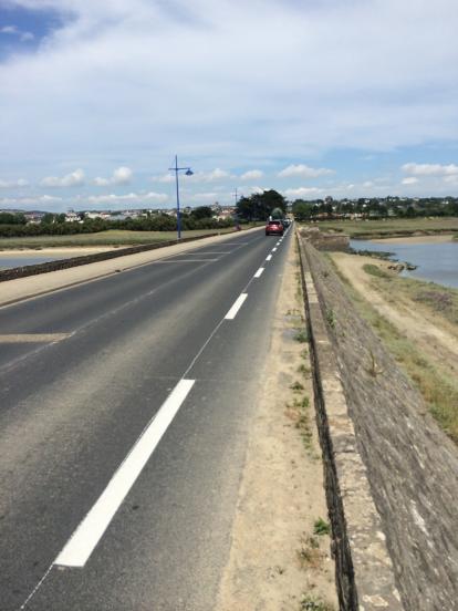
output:
[{"label": "blue-grey estuary water to the right of the stone wall", "polygon": [[438,244],[377,244],[366,240],[350,240],[355,250],[393,252],[393,259],[417,266],[402,276],[429,280],[446,287],[458,288],[458,241]]}]

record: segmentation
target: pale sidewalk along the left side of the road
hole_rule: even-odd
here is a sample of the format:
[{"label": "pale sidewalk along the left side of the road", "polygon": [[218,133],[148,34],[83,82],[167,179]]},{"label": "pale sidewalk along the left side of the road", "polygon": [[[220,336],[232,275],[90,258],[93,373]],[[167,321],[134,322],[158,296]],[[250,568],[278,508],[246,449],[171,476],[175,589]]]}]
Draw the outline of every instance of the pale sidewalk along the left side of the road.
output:
[{"label": "pale sidewalk along the left side of the road", "polygon": [[118,257],[116,259],[108,259],[96,263],[87,263],[75,268],[61,269],[58,271],[40,273],[38,276],[28,276],[27,278],[8,280],[0,283],[0,307],[56,291],[59,289],[73,287],[74,284],[81,284],[90,280],[111,276],[112,273],[117,273],[135,267],[144,266],[158,259],[165,259],[167,257],[180,255],[181,252],[196,250],[202,246],[229,241],[235,237],[259,230],[260,228],[256,227],[253,229],[247,229],[242,232],[202,238],[191,242],[166,246],[164,248],[138,252],[136,255],[127,255],[126,257]]}]

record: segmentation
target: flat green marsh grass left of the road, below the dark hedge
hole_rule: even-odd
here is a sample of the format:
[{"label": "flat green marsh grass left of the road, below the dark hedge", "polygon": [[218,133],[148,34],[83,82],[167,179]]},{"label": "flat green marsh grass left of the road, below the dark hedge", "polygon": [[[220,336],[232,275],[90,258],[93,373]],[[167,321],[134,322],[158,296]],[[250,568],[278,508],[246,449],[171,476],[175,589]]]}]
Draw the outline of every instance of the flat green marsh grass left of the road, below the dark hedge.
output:
[{"label": "flat green marsh grass left of the road, below the dark hedge", "polygon": [[[232,227],[226,229],[199,229],[183,231],[181,238],[194,238],[209,234],[226,234],[232,231]],[[128,231],[110,229],[96,234],[80,234],[76,236],[30,236],[15,238],[0,238],[0,250],[9,248],[52,248],[52,247],[86,247],[86,246],[138,246],[143,244],[158,244],[167,240],[176,240],[176,231]]]}]

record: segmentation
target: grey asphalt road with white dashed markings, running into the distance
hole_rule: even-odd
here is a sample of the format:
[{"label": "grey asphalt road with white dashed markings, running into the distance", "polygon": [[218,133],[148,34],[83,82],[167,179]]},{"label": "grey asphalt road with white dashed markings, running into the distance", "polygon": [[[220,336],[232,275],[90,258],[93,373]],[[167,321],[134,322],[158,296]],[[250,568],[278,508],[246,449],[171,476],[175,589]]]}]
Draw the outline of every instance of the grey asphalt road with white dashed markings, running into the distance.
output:
[{"label": "grey asphalt road with white dashed markings, running into the distance", "polygon": [[0,309],[1,611],[212,609],[290,234]]}]

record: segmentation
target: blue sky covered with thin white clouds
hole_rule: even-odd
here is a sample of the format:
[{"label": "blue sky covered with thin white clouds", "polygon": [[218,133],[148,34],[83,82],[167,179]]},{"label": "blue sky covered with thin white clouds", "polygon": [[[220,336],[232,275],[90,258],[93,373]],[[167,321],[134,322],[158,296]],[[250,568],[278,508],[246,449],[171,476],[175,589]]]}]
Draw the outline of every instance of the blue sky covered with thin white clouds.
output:
[{"label": "blue sky covered with thin white clouds", "polygon": [[0,208],[458,196],[456,0],[0,0]]}]

